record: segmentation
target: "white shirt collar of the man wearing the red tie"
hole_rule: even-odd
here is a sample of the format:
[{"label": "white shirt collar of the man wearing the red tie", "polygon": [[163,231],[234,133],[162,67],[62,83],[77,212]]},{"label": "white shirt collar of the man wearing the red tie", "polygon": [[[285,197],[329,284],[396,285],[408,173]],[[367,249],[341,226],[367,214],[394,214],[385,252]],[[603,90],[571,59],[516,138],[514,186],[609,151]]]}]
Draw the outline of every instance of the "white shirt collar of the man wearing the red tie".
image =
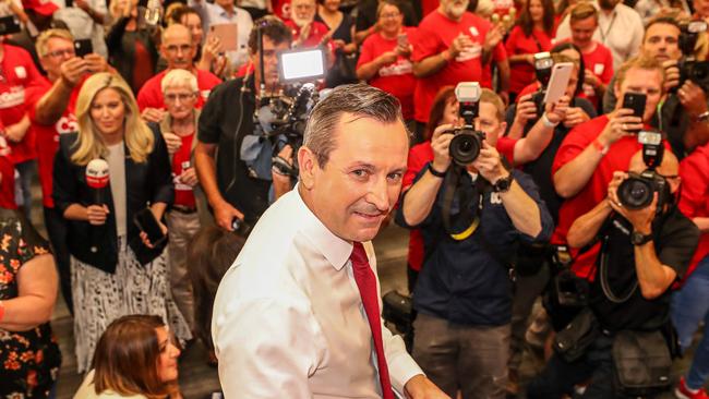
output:
[{"label": "white shirt collar of the man wearing the red tie", "polygon": [[300,215],[301,222],[300,231],[313,244],[315,250],[325,256],[331,265],[337,270],[340,270],[349,261],[352,254],[352,243],[340,239],[335,235],[323,222],[317,219],[315,214],[310,210],[308,205],[303,202],[298,191],[300,184],[289,193],[295,196],[296,211]]}]

